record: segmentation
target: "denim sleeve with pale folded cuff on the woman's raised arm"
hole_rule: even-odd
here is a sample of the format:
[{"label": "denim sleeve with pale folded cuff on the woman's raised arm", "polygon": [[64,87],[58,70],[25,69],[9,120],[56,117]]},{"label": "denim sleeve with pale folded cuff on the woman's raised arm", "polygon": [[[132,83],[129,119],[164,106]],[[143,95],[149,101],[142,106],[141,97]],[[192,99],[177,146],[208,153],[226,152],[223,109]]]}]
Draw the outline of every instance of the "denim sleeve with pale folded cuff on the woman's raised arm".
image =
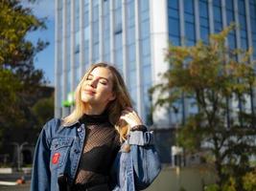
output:
[{"label": "denim sleeve with pale folded cuff on the woman's raised arm", "polygon": [[161,163],[153,143],[152,132],[133,131],[129,134],[128,144],[136,190],[147,188],[160,173]]}]

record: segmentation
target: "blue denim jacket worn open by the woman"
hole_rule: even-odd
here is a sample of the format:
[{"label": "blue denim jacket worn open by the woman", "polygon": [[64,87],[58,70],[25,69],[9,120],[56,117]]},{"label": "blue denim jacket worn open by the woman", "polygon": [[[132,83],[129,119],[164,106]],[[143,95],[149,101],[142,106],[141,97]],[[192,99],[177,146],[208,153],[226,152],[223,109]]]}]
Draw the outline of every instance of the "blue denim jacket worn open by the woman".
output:
[{"label": "blue denim jacket worn open by the woman", "polygon": [[[32,191],[58,191],[58,178],[65,175],[69,185],[75,180],[79,166],[85,127],[79,121],[61,126],[54,118],[43,127],[35,147]],[[151,132],[134,131],[123,143],[112,170],[113,191],[135,191],[148,187],[160,172],[161,166],[152,145]],[[124,151],[126,144],[130,151]]]}]

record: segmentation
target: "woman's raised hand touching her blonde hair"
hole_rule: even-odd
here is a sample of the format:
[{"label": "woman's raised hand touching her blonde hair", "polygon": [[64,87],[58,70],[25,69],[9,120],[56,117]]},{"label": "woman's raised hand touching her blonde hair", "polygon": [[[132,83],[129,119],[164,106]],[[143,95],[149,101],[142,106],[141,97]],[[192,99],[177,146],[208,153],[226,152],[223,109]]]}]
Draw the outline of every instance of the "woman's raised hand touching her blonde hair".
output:
[{"label": "woman's raised hand touching her blonde hair", "polygon": [[142,119],[130,107],[122,111],[120,119],[125,120],[128,123],[130,129],[138,125],[143,125]]}]

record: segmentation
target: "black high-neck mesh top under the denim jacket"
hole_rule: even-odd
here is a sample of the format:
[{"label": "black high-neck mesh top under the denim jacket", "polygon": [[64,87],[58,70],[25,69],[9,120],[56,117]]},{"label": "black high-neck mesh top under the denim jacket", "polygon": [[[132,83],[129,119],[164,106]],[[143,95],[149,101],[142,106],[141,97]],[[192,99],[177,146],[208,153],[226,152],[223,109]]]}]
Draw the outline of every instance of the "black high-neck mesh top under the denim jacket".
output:
[{"label": "black high-neck mesh top under the denim jacket", "polygon": [[86,134],[72,190],[84,190],[84,186],[106,182],[121,145],[119,134],[108,121],[107,114],[84,115],[80,121],[85,125]]}]

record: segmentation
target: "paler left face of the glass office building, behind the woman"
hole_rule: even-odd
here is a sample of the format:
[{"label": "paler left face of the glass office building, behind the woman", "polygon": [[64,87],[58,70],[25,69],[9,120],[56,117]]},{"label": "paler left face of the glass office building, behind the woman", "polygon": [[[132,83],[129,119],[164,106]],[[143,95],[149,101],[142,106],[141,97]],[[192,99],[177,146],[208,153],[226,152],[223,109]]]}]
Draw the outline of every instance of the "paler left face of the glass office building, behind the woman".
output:
[{"label": "paler left face of the glass office building, behind the woman", "polygon": [[151,123],[151,1],[56,0],[55,116],[69,114],[74,92],[91,63],[114,64],[137,112]]}]

